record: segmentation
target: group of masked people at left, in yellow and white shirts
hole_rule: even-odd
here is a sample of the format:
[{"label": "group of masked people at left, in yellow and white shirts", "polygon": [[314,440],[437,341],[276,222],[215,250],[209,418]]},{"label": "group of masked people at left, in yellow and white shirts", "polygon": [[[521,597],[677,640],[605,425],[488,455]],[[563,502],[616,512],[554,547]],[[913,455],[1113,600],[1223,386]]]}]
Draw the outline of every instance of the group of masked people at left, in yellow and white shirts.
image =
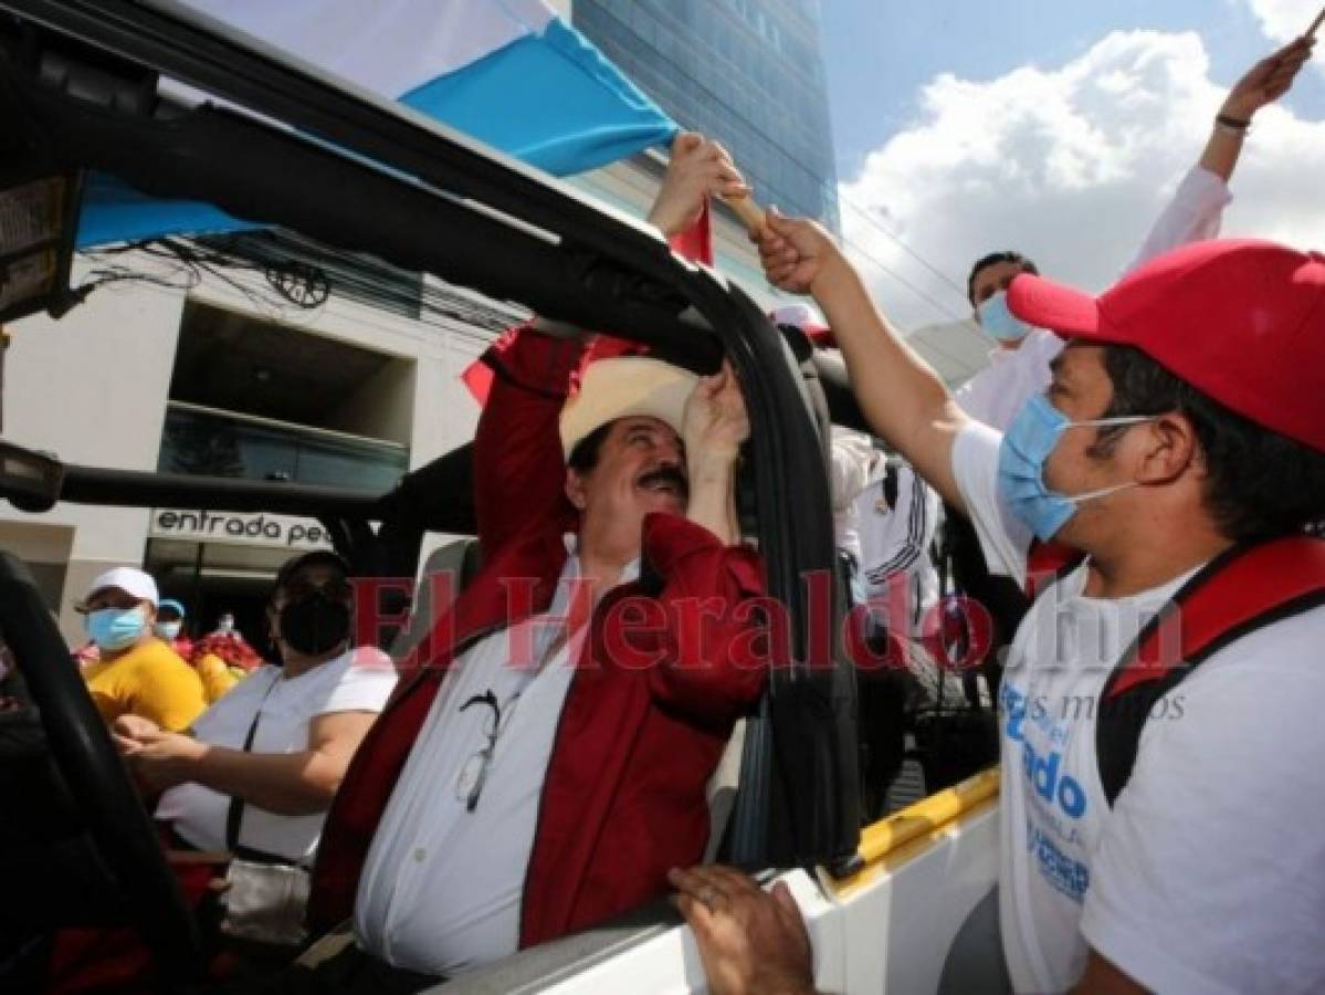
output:
[{"label": "group of masked people at left, in yellow and white shirts", "polygon": [[[223,612],[189,640],[186,607],[151,575],[117,567],[78,608],[95,658],[82,676],[109,723],[207,949],[241,976],[305,938],[309,874],[326,811],[396,682],[391,660],[351,641],[350,567],[331,551],[288,560],[268,603],[277,664]],[[97,990],[144,972],[125,930],[62,930],[48,983]]]}]

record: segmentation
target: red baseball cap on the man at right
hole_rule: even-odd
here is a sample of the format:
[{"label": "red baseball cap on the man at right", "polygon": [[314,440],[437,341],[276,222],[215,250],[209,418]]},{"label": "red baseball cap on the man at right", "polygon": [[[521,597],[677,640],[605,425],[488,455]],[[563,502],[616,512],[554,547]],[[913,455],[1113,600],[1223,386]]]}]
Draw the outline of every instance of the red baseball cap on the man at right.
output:
[{"label": "red baseball cap on the man at right", "polygon": [[1136,346],[1243,417],[1325,453],[1325,256],[1187,245],[1098,298],[1023,273],[1007,306],[1069,339]]}]

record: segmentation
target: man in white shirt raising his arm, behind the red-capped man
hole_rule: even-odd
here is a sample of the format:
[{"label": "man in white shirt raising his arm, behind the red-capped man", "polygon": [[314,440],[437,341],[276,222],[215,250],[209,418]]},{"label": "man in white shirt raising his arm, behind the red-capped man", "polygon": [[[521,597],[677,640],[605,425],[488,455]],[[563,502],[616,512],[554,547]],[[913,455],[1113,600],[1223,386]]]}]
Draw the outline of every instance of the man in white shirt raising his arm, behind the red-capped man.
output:
[{"label": "man in white shirt raising his arm, behind the red-capped man", "polygon": [[[1252,118],[1288,91],[1310,50],[1310,42],[1298,38],[1234,83],[1215,117],[1200,160],[1178,184],[1124,273],[1169,249],[1218,237],[1223,211],[1232,201],[1228,180]],[[1049,363],[1063,350],[1063,339],[1052,331],[1030,326],[1008,311],[1007,288],[1019,273],[1037,274],[1039,269],[1018,252],[995,252],[978,260],[966,281],[971,317],[995,348],[990,364],[954,396],[962,411],[999,431],[1008,427],[1027,397],[1049,386]]]}]

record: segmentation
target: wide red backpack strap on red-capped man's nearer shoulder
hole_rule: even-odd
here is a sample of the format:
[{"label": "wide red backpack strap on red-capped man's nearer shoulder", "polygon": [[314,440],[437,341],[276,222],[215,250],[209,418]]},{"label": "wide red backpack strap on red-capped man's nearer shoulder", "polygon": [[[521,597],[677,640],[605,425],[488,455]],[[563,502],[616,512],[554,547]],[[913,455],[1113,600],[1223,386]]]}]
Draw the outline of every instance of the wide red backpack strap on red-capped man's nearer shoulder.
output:
[{"label": "wide red backpack strap on red-capped man's nearer shoulder", "polygon": [[1165,607],[1120,661],[1106,697],[1161,680],[1257,620],[1320,596],[1325,541],[1288,535],[1236,547],[1208,563]]}]

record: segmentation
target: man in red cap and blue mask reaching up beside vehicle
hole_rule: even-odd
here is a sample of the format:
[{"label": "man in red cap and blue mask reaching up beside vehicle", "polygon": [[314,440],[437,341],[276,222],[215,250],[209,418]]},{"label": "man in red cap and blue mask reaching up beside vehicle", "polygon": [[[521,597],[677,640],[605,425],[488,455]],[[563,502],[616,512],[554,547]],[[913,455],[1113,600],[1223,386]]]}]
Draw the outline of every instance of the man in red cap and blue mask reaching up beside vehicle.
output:
[{"label": "man in red cap and blue mask reaching up beside vehicle", "polygon": [[[1012,987],[1325,990],[1325,851],[1302,828],[1325,816],[1325,546],[1304,531],[1325,509],[1325,256],[1200,242],[1098,298],[1016,277],[1008,307],[1068,346],[1000,435],[814,223],[770,217],[761,252],[823,306],[867,417],[991,563],[1022,576],[1032,535],[1086,554],[1031,608],[1000,692]],[[673,877],[710,966],[812,987],[804,958],[757,963],[768,935],[803,942],[786,896]]]}]

